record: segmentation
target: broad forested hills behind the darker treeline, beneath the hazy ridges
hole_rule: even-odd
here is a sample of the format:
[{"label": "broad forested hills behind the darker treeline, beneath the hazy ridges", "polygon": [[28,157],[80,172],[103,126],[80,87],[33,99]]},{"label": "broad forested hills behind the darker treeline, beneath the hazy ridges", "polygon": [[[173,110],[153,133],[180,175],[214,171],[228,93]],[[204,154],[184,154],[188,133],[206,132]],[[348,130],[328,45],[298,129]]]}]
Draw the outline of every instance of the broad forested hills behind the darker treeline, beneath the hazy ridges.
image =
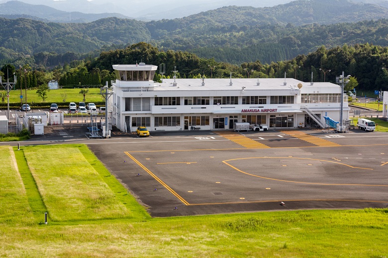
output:
[{"label": "broad forested hills behind the darker treeline, beneath the hazy ridges", "polygon": [[[388,17],[387,8],[347,0],[297,0],[268,8],[228,6],[151,22],[112,17],[90,23],[0,18],[0,64],[22,65],[28,58],[28,63],[52,67],[68,61],[55,55],[80,56],[113,44],[124,47],[137,42],[232,64],[271,63],[307,54],[321,45],[369,42],[388,46],[388,20],[380,17]],[[48,56],[53,62],[48,62]]]}]

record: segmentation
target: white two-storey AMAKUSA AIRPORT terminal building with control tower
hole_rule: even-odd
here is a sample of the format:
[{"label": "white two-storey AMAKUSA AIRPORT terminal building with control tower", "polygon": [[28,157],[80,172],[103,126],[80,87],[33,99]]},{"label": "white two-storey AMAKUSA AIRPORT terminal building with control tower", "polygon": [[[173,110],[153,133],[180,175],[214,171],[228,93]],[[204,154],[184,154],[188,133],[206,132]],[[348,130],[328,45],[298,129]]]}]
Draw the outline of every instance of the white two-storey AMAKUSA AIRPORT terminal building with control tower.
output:
[{"label": "white two-storey AMAKUSA AIRPORT terminal building with control tower", "polygon": [[[341,87],[291,78],[163,79],[153,81],[157,66],[113,65],[108,113],[112,125],[133,132],[230,130],[236,122],[269,129],[323,125],[324,116],[340,118]],[[343,119],[349,118],[344,94]]]}]

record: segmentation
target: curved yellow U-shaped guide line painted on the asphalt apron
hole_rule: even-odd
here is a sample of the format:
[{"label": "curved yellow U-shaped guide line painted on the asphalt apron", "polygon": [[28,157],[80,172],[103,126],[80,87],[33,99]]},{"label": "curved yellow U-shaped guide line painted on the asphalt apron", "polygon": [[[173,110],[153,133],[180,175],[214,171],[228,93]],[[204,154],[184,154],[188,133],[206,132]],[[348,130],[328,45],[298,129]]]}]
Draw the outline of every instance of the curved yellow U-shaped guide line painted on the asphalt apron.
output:
[{"label": "curved yellow U-shaped guide line painted on the asphalt apron", "polygon": [[229,167],[231,167],[232,169],[238,171],[238,172],[241,172],[241,173],[244,173],[244,174],[247,174],[247,175],[251,175],[251,176],[255,176],[255,177],[259,177],[259,178],[263,178],[263,179],[274,180],[274,181],[289,182],[289,183],[300,183],[300,184],[314,184],[314,185],[383,186],[383,187],[387,187],[387,186],[388,186],[388,185],[386,185],[386,184],[312,183],[312,182],[301,182],[301,181],[283,180],[283,179],[265,177],[265,176],[260,176],[260,175],[256,175],[256,174],[251,174],[251,173],[248,173],[248,172],[244,172],[244,171],[241,171],[241,170],[237,169],[236,167],[234,167],[234,166],[228,164],[228,161],[247,160],[247,159],[300,159],[300,160],[314,160],[314,161],[321,161],[321,162],[336,163],[336,164],[339,164],[339,165],[347,166],[347,167],[352,168],[352,169],[373,170],[373,169],[368,169],[368,168],[358,168],[358,167],[353,167],[353,166],[350,166],[350,165],[347,165],[347,164],[343,164],[343,163],[339,163],[339,162],[325,161],[325,160],[317,160],[317,159],[309,159],[309,158],[256,157],[256,158],[240,158],[240,159],[232,159],[232,160],[226,160],[226,161],[222,161],[222,162],[223,162],[224,164],[228,165]]}]

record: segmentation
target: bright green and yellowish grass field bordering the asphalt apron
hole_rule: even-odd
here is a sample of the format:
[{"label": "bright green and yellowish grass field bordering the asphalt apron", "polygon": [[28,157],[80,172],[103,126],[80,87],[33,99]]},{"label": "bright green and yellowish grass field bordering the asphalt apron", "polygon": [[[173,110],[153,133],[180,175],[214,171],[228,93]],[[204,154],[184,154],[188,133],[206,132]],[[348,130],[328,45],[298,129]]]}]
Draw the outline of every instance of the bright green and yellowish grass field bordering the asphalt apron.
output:
[{"label": "bright green and yellowish grass field bordering the asphalt apron", "polygon": [[0,158],[0,257],[388,257],[388,209],[151,218],[85,145]]}]

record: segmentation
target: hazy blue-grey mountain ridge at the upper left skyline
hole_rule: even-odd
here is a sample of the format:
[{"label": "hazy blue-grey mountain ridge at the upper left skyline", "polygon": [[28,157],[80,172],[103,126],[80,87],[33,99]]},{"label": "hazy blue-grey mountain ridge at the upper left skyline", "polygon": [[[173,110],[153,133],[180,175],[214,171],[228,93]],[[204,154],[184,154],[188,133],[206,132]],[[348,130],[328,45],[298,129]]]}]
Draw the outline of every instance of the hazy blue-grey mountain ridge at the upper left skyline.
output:
[{"label": "hazy blue-grey mountain ridge at the upper left skyline", "polygon": [[0,17],[19,18],[29,17],[36,20],[44,20],[51,22],[92,22],[98,19],[107,17],[118,17],[130,19],[130,17],[120,13],[82,13],[82,12],[66,12],[57,10],[46,5],[36,5],[24,3],[17,0],[7,1],[0,4]]}]

